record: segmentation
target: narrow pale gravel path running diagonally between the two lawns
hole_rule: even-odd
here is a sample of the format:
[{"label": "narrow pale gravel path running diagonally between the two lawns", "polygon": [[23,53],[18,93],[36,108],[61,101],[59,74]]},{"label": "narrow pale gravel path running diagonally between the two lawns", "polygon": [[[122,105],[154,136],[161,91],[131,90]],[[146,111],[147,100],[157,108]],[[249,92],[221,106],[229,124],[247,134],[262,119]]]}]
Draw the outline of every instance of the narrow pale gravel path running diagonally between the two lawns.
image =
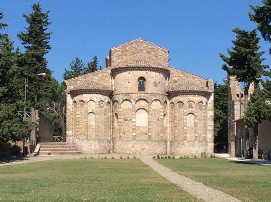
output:
[{"label": "narrow pale gravel path running diagonally between the two lawns", "polygon": [[200,200],[203,200],[205,202],[241,202],[240,200],[228,194],[225,194],[211,187],[207,187],[203,185],[203,183],[194,181],[177,172],[174,172],[169,168],[166,168],[161,164],[157,163],[149,156],[139,156],[139,158],[143,163],[153,168],[156,172],[168,179],[170,182],[177,184],[186,192]]}]

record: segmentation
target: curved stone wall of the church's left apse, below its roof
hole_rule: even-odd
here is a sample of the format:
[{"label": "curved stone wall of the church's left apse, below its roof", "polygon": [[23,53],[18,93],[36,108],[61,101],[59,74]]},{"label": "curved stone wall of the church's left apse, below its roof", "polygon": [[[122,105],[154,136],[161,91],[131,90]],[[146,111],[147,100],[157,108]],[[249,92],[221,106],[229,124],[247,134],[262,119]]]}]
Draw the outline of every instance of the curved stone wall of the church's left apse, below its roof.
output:
[{"label": "curved stone wall of the church's left apse, below its roof", "polygon": [[110,99],[105,95],[79,94],[72,96],[72,107],[70,107],[72,128],[70,138],[67,137],[67,139],[85,153],[109,153],[110,107]]}]

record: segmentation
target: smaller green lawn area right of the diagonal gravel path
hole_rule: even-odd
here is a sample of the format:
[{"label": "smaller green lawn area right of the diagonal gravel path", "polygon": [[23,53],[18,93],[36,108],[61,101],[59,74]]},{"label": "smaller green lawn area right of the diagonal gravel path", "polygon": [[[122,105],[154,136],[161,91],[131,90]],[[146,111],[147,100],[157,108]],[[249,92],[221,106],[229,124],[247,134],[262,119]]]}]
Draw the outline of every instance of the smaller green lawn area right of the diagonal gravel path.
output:
[{"label": "smaller green lawn area right of the diagonal gravel path", "polygon": [[271,201],[271,166],[218,158],[156,161],[242,201]]}]

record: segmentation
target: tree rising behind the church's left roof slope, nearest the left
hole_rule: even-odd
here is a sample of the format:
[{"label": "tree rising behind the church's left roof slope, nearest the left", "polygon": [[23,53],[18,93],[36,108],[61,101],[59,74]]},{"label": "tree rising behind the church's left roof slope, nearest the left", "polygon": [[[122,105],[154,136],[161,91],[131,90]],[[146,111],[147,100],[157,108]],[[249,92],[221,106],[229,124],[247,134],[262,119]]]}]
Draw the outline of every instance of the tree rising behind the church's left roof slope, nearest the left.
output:
[{"label": "tree rising behind the church's left roof slope, nearest the left", "polygon": [[76,59],[69,64],[69,67],[70,70],[65,68],[65,73],[63,74],[64,80],[80,76],[85,73],[85,65],[79,57],[76,57]]}]

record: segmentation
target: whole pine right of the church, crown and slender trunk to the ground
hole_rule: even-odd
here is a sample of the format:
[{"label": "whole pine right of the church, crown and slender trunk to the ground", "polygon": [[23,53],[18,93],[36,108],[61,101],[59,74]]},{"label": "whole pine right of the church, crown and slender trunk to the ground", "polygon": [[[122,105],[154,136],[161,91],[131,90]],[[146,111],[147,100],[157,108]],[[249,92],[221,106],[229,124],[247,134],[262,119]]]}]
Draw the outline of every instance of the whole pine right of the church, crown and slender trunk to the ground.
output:
[{"label": "whole pine right of the church, crown and slender trunk to the ground", "polygon": [[[248,123],[246,118],[245,124],[248,127],[255,126],[253,127],[254,133],[253,137],[251,137],[251,143],[253,145],[253,159],[258,159],[258,125],[255,125],[255,121],[259,121],[259,119],[257,113],[254,113],[254,115],[250,113],[253,112],[254,109],[250,111],[250,109],[247,108],[248,90],[252,82],[257,87],[261,81],[261,77],[269,74],[266,71],[268,66],[262,64],[265,60],[261,58],[264,52],[259,52],[260,46],[258,43],[260,38],[257,37],[256,30],[247,32],[235,28],[233,32],[236,33],[236,40],[232,41],[234,44],[233,50],[228,49],[229,57],[220,54],[221,59],[226,63],[222,66],[222,69],[226,70],[229,75],[236,76],[239,82],[244,83],[245,116],[250,117],[250,123]],[[255,94],[256,93],[258,93],[257,89]],[[255,103],[255,105],[258,104],[260,103]],[[261,104],[263,104],[263,102],[261,102]],[[247,130],[247,127],[245,127],[244,130]]]}]

